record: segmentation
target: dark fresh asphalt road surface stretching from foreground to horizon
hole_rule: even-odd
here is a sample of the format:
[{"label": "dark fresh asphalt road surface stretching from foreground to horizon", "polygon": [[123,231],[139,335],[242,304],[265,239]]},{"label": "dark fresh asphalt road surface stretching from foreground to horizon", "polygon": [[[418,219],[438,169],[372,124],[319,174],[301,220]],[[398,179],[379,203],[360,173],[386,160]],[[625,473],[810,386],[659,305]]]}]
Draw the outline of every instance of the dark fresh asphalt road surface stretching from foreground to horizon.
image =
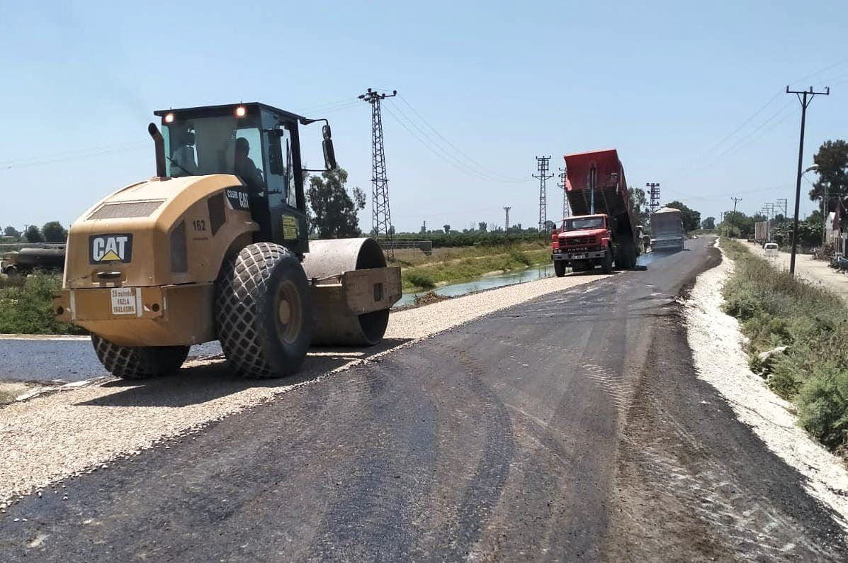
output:
[{"label": "dark fresh asphalt road surface stretching from foreground to horizon", "polygon": [[674,297],[710,243],[24,498],[3,559],[845,560],[801,476],[695,378]]}]

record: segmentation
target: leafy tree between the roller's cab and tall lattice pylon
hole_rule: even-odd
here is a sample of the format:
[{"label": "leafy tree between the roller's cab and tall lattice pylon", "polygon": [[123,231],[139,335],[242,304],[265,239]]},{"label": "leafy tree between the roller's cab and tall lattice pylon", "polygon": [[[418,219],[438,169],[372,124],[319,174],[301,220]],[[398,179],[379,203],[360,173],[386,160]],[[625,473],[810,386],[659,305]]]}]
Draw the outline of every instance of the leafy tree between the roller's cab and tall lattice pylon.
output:
[{"label": "leafy tree between the roller's cab and tall lattice pylon", "polygon": [[310,177],[310,227],[321,239],[343,239],[361,234],[356,212],[365,208],[365,192],[354,188],[351,199],[344,186],[347,182],[348,172],[343,168]]}]

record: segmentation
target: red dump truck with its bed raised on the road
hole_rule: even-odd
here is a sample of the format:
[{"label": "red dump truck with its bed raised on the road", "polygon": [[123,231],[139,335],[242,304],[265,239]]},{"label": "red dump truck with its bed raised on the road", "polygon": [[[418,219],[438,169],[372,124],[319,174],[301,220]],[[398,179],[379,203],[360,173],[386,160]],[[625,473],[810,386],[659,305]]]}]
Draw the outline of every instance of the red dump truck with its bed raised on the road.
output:
[{"label": "red dump truck with its bed raised on the road", "polygon": [[566,155],[566,196],[571,217],[555,229],[552,259],[556,275],[566,267],[608,273],[636,266],[641,245],[633,220],[628,183],[616,149]]}]

